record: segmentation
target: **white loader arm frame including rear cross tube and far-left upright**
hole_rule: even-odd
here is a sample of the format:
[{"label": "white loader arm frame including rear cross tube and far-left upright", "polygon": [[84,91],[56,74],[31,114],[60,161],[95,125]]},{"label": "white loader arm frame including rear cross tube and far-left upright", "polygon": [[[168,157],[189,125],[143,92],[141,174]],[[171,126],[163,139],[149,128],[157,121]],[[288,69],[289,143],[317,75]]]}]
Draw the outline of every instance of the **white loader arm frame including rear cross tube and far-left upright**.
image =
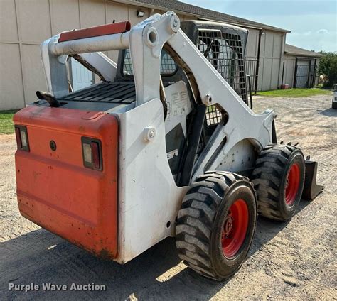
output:
[{"label": "white loader arm frame including rear cross tube and far-left upright", "polygon": [[[62,42],[58,42],[59,38],[59,35],[50,38],[42,45],[43,62],[45,69],[49,70],[49,73],[46,72],[47,81],[53,82],[48,87],[52,87],[55,97],[68,93],[66,71],[62,65],[65,55],[129,48],[136,106],[152,99],[161,99],[161,51],[165,48],[186,73],[195,101],[205,106],[216,105],[228,114],[228,121],[218,125],[220,128],[213,133],[208,147],[198,156],[191,180],[203,173],[205,167],[208,170],[217,169],[222,159],[240,141],[250,143],[250,153],[252,148],[258,153],[272,143],[274,112],[255,114],[183,33],[178,16],[171,11],[163,15],[155,14],[123,33]],[[99,65],[96,69],[100,72]],[[243,149],[239,148],[241,157],[250,157],[248,153],[242,153]]]}]

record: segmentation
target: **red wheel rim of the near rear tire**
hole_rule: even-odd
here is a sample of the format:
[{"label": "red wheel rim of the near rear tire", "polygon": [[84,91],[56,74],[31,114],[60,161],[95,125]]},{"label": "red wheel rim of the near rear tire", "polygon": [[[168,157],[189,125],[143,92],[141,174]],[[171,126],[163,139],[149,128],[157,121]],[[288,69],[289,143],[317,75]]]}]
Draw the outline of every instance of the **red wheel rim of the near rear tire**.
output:
[{"label": "red wheel rim of the near rear tire", "polygon": [[240,250],[247,234],[248,221],[247,204],[243,199],[237,199],[230,206],[223,223],[221,244],[225,257],[233,257]]}]

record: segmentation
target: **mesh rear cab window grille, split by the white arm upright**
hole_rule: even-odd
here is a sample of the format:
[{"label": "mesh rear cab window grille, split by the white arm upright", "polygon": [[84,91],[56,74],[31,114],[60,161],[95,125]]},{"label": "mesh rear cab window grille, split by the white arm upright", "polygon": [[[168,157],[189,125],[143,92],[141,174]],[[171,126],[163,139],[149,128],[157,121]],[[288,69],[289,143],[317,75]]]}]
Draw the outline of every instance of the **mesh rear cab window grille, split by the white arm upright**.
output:
[{"label": "mesh rear cab window grille, split by the white arm upright", "polygon": [[[169,55],[169,53],[166,53],[165,50],[161,51],[161,66],[160,71],[161,75],[173,75],[177,70],[176,62],[174,62],[173,58]],[[123,74],[125,76],[134,75],[134,72],[132,70],[132,61],[131,61],[131,54],[130,50],[125,50],[124,54],[124,65],[123,65]]]}]

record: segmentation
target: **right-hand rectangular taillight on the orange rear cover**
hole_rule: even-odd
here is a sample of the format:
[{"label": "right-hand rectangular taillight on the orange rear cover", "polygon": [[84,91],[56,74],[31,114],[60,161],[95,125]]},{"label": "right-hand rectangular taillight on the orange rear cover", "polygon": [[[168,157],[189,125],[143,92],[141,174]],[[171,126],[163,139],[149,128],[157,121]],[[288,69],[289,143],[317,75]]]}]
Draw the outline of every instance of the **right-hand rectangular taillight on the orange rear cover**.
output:
[{"label": "right-hand rectangular taillight on the orange rear cover", "polygon": [[86,168],[102,170],[102,143],[98,139],[82,137],[83,165]]}]

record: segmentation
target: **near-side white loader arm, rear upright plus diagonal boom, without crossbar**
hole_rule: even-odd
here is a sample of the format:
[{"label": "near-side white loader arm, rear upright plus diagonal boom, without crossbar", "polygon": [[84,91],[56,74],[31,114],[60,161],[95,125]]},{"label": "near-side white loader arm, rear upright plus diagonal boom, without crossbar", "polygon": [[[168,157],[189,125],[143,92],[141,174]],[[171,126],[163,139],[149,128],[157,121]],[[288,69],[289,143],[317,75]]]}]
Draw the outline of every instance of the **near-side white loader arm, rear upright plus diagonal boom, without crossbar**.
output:
[{"label": "near-side white loader arm, rear upright plus diagonal boom, without crossbar", "polygon": [[272,143],[272,121],[275,115],[273,111],[255,114],[179,29],[179,24],[178,17],[172,12],[139,23],[130,32],[130,51],[137,106],[160,98],[159,58],[167,43],[169,47],[165,49],[186,72],[196,102],[205,106],[216,104],[228,114],[227,123],[219,124],[220,130],[215,131],[208,148],[199,156],[193,170],[193,180],[203,173],[206,165],[208,170],[217,169],[224,156],[240,141],[250,141],[257,152]]}]

